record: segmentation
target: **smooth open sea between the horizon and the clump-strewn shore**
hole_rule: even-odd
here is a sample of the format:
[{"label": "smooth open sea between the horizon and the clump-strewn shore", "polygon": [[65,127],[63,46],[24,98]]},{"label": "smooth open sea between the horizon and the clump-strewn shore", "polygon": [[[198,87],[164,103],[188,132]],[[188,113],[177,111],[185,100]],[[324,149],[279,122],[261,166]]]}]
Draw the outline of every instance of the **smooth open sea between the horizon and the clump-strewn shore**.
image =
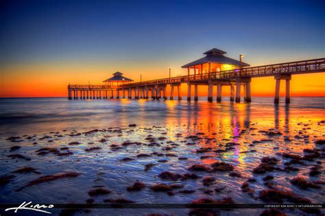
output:
[{"label": "smooth open sea between the horizon and the clump-strewn shore", "polygon": [[[169,126],[182,123],[221,123],[230,121],[276,121],[285,117],[325,119],[325,97],[293,97],[274,106],[272,97],[254,97],[250,104],[227,101],[14,98],[0,99],[0,131],[19,135],[58,130],[89,130],[140,126]],[[284,120],[284,119],[283,119]],[[225,122],[226,121],[226,122]],[[225,125],[226,126],[226,125]]]}]

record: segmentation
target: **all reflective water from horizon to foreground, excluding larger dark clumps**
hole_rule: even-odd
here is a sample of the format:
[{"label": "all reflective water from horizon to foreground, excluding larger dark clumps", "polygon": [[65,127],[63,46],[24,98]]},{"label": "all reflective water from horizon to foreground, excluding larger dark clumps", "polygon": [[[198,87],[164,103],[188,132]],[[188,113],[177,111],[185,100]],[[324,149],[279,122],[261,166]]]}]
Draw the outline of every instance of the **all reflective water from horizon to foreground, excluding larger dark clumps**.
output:
[{"label": "all reflective water from horizon to foreground, excluding larger dark clumps", "polygon": [[[137,203],[191,203],[200,198],[220,200],[231,197],[235,203],[264,203],[261,191],[276,185],[277,189],[308,198],[312,203],[323,203],[324,184],[321,189],[301,189],[290,180],[304,176],[310,182],[324,181],[324,146],[315,145],[325,139],[325,98],[293,97],[291,104],[273,104],[272,97],[253,97],[252,103],[224,101],[170,101],[146,99],[78,99],[17,98],[0,99],[0,176],[12,175],[7,184],[0,186],[1,203],[23,201],[47,203],[95,203],[108,199],[125,198]],[[130,127],[130,124],[136,124]],[[91,131],[91,132],[89,132]],[[268,132],[279,132],[271,134]],[[16,136],[14,139],[8,139]],[[149,138],[149,139],[148,139]],[[77,142],[77,145],[69,145]],[[123,143],[131,143],[124,144]],[[228,144],[227,144],[228,143]],[[229,146],[231,147],[229,148]],[[10,152],[10,147],[19,146]],[[42,152],[41,148],[56,149]],[[61,149],[68,147],[69,149]],[[90,147],[99,147],[88,151]],[[228,147],[228,148],[227,148]],[[323,147],[323,149],[322,149]],[[218,151],[224,150],[224,151]],[[261,158],[271,156],[283,169],[291,158],[283,153],[304,156],[303,149],[314,149],[321,156],[302,164],[294,164],[297,171],[274,170],[263,174],[252,173]],[[60,153],[72,152],[68,155]],[[24,158],[12,158],[20,154]],[[147,154],[147,156],[139,156]],[[179,160],[178,158],[187,158]],[[123,158],[131,158],[123,161]],[[232,165],[241,176],[230,171],[193,171],[191,165],[210,167],[222,161]],[[145,170],[145,165],[152,164]],[[309,176],[317,165],[320,174]],[[36,172],[13,173],[21,167],[33,167]],[[80,173],[75,178],[62,178],[30,185],[28,182],[41,176],[67,172]],[[166,180],[163,171],[196,173],[195,180]],[[270,184],[263,178],[272,175]],[[215,178],[206,186],[205,177]],[[243,182],[250,183],[251,194],[241,189]],[[136,180],[145,184],[141,191],[127,191]],[[156,192],[152,185],[180,184],[182,189],[172,193]],[[91,196],[94,187],[105,187],[111,193]],[[218,190],[215,190],[218,189]],[[180,193],[193,190],[193,193]],[[287,200],[284,200],[287,202]],[[53,209],[54,215],[60,211]],[[219,211],[221,215],[258,215],[262,209]],[[303,215],[299,210],[285,210],[287,214]],[[150,213],[188,215],[188,209],[92,209],[75,215],[147,215]],[[0,213],[2,215],[2,213]]]}]

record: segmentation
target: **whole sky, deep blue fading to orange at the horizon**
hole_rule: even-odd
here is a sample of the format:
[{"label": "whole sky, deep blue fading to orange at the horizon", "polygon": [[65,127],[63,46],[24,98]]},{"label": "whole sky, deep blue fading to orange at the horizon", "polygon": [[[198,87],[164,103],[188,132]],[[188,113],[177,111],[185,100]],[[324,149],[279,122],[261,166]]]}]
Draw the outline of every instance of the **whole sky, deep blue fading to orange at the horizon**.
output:
[{"label": "whole sky, deep blue fading to orange at the horizon", "polygon": [[[115,71],[135,81],[169,68],[186,75],[181,66],[212,48],[252,66],[324,58],[324,8],[313,0],[1,1],[0,97],[67,96],[67,84],[101,84]],[[325,96],[324,81],[325,73],[294,75],[291,95]],[[272,96],[274,86],[274,77],[256,78],[252,95]]]}]

